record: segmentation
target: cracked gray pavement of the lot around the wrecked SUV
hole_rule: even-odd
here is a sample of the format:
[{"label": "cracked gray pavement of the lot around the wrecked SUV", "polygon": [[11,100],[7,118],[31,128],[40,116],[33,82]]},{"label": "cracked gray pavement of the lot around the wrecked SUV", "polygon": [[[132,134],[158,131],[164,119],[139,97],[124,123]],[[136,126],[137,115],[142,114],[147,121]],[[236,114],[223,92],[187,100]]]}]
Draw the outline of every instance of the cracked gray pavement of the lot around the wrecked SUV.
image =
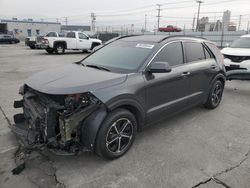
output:
[{"label": "cracked gray pavement of the lot around the wrecked SUV", "polygon": [[226,83],[215,110],[196,107],[137,135],[130,151],[106,161],[92,153],[33,152],[12,175],[18,142],[9,126],[19,86],[30,75],[79,61],[86,53],[48,55],[23,43],[0,45],[0,187],[249,188],[250,81]]}]

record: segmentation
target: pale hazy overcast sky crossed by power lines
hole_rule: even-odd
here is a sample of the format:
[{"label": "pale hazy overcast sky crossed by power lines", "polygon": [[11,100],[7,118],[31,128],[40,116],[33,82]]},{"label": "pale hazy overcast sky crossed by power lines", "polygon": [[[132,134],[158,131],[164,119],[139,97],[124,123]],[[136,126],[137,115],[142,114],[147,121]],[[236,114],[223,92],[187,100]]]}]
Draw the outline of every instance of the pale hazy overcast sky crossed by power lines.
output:
[{"label": "pale hazy overcast sky crossed by power lines", "polygon": [[[191,28],[198,4],[195,0],[0,0],[0,19],[17,17],[35,20],[56,21],[64,24],[90,24],[90,13],[96,13],[99,27],[122,27],[134,24],[144,27],[147,14],[147,27],[157,24],[157,6],[161,8],[161,26],[177,25]],[[201,17],[209,16],[210,21],[221,19],[225,10],[232,12],[231,20],[238,24],[242,16],[242,28],[250,20],[250,0],[204,0]]]}]

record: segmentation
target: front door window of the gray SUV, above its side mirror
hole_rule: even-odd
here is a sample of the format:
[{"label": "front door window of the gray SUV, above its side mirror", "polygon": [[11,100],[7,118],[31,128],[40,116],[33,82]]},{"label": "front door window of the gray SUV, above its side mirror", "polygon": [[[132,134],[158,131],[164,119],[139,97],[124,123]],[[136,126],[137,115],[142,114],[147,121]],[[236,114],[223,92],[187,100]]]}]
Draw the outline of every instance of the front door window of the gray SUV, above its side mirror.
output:
[{"label": "front door window of the gray SUV, above its side mirror", "polygon": [[170,66],[183,64],[181,42],[174,42],[165,46],[154,58],[153,62],[168,62]]}]

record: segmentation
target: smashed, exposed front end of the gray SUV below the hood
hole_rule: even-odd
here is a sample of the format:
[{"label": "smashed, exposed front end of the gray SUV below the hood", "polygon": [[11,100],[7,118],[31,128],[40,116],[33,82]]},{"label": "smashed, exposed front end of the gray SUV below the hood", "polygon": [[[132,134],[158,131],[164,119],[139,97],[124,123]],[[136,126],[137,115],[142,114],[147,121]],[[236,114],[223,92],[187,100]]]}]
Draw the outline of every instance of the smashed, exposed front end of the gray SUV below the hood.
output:
[{"label": "smashed, exposed front end of the gray SUV below the hood", "polygon": [[12,126],[28,146],[48,147],[57,154],[76,154],[85,148],[82,139],[84,120],[103,103],[91,93],[50,95],[24,85],[23,99],[14,102],[23,113],[14,116]]}]

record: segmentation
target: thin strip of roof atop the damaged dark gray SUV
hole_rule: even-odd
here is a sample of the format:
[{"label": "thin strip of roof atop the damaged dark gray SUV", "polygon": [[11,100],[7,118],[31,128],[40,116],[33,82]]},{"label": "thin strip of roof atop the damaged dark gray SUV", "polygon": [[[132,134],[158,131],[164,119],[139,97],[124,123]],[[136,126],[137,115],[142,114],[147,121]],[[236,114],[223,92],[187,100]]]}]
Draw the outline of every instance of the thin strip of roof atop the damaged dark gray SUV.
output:
[{"label": "thin strip of roof atop the damaged dark gray SUV", "polygon": [[195,40],[195,41],[207,41],[204,38],[198,38],[193,36],[180,36],[180,35],[132,35],[132,36],[123,36],[119,38],[122,41],[127,42],[152,42],[152,43],[161,43],[167,39],[186,39],[186,40]]}]

